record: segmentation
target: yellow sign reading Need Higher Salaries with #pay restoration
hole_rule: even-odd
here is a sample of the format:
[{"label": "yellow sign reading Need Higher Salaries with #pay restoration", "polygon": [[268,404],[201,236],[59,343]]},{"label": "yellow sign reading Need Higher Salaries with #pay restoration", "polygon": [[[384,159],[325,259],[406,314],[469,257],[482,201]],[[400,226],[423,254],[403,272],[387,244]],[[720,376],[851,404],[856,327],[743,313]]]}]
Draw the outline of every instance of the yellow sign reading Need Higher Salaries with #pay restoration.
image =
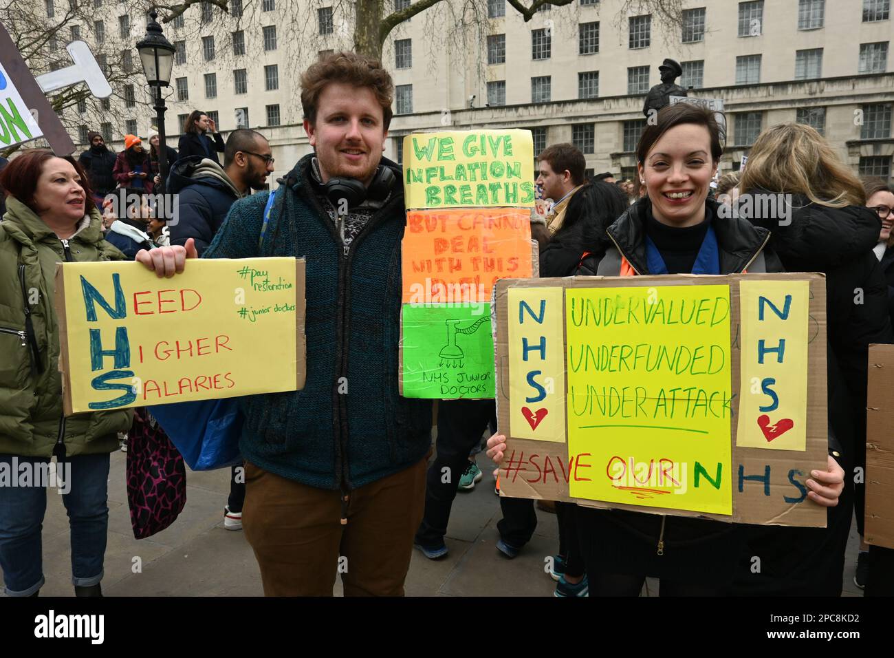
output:
[{"label": "yellow sign reading Need Higher Salaries with #pay restoration", "polygon": [[66,415],[304,388],[305,261],[136,262],[55,275]]}]

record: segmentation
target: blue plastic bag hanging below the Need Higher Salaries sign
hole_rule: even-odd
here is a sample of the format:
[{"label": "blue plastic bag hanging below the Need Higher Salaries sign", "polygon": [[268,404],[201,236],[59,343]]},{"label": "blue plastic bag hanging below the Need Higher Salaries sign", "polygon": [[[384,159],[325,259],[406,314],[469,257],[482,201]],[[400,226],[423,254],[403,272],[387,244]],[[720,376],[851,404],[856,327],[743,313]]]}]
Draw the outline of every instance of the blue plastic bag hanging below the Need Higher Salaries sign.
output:
[{"label": "blue plastic bag hanging below the Need Higher Salaries sign", "polygon": [[242,463],[239,437],[244,416],[238,397],[148,407],[193,471]]}]

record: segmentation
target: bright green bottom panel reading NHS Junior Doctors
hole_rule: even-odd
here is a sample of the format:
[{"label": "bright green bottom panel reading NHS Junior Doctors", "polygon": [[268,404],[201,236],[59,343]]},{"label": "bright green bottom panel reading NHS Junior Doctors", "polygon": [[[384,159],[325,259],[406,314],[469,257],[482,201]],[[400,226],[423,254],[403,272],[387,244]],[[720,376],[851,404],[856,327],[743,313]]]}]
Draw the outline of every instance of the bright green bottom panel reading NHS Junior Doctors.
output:
[{"label": "bright green bottom panel reading NHS Junior Doctors", "polygon": [[493,397],[491,305],[403,305],[404,397]]}]

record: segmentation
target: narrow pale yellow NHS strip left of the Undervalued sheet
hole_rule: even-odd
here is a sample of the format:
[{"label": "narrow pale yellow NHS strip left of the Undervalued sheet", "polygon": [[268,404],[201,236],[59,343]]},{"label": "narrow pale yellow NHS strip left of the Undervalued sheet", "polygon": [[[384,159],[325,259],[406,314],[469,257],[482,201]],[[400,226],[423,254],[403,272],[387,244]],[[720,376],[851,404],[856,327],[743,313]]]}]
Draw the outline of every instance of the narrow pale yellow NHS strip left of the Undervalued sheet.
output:
[{"label": "narrow pale yellow NHS strip left of the Undervalued sheet", "polygon": [[516,439],[565,442],[562,288],[510,288],[510,427]]}]

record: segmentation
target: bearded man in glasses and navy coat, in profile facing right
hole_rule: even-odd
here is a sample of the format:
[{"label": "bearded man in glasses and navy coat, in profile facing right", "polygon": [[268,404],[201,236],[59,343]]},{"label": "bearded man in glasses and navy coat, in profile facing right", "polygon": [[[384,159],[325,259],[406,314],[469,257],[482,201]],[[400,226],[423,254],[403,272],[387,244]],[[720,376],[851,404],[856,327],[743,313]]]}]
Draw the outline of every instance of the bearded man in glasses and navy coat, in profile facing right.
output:
[{"label": "bearded man in glasses and navy coat, in profile facing right", "polygon": [[[223,149],[223,168],[210,158],[191,156],[177,161],[168,177],[167,192],[175,194],[177,220],[168,221],[171,244],[185,245],[191,237],[201,256],[214,240],[230,207],[252,190],[263,190],[274,170],[270,144],[260,132],[240,128],[230,133]],[[232,467],[230,498],[223,508],[223,527],[242,529],[245,478]]]}]

